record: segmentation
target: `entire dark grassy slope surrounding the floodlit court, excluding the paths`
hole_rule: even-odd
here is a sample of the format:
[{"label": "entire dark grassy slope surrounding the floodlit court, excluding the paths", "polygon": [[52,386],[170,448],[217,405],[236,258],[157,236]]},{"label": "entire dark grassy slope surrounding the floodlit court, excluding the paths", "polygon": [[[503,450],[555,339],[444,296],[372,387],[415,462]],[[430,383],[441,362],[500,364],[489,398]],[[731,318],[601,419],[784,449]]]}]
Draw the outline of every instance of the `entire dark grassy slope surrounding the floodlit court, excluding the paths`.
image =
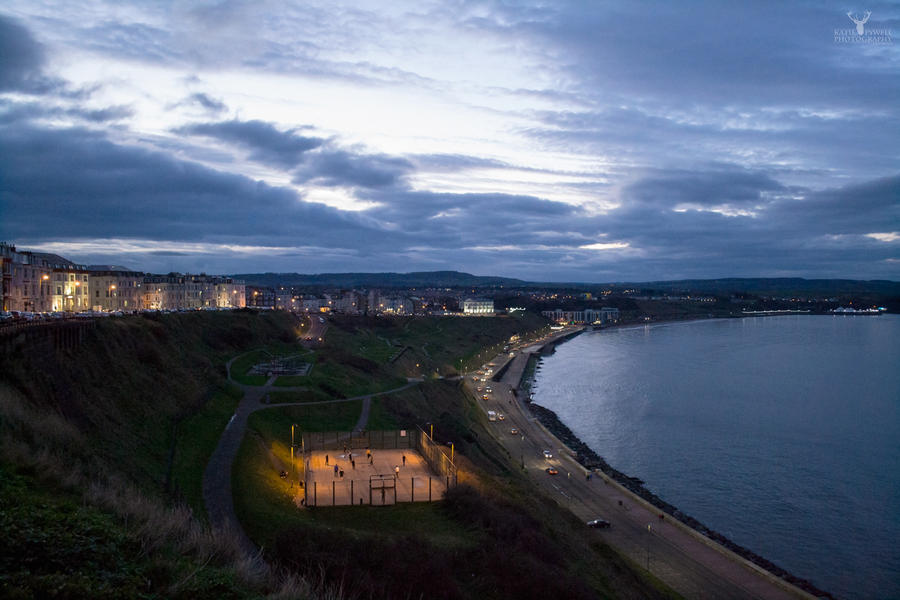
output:
[{"label": "entire dark grassy slope surrounding the floodlit court, excluding the paths", "polygon": [[[334,319],[310,356],[309,398],[452,375],[484,346],[543,325]],[[241,398],[225,363],[258,348],[303,352],[301,327],[277,312],[190,313],[103,320],[67,349],[3,340],[0,597],[666,597],[532,494],[454,381],[379,398],[370,416],[370,427],[430,422],[455,442],[465,484],[445,501],[298,510],[278,477],[285,425],[347,426],[360,404],[273,406],[251,418],[233,474],[265,560],[210,531],[202,473]]]}]

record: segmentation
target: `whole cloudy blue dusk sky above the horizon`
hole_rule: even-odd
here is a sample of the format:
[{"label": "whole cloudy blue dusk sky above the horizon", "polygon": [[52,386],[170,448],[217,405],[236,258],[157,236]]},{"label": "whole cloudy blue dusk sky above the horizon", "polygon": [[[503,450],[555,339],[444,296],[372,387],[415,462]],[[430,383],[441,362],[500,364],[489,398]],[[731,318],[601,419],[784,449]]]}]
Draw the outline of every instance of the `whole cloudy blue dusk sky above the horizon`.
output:
[{"label": "whole cloudy blue dusk sky above the horizon", "polygon": [[900,280],[900,3],[853,2],[6,0],[0,240],[163,273]]}]

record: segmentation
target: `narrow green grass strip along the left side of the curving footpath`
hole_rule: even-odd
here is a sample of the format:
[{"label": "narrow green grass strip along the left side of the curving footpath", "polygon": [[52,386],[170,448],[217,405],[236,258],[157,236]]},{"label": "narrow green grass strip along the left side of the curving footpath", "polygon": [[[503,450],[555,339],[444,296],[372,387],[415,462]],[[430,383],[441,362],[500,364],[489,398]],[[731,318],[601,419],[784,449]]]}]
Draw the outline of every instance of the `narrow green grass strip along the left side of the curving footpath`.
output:
[{"label": "narrow green grass strip along the left side of the curving footpath", "polygon": [[178,426],[172,481],[194,514],[206,518],[203,471],[243,393],[235,386],[217,390],[206,406]]}]

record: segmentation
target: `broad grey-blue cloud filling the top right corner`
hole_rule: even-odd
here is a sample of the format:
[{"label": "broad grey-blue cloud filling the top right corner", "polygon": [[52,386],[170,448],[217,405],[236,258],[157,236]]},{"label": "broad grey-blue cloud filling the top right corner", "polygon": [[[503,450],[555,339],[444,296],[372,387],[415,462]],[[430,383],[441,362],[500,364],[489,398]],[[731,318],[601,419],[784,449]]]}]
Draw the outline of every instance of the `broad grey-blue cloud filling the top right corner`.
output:
[{"label": "broad grey-blue cloud filling the top right corner", "polygon": [[[896,18],[894,8],[879,8],[879,26]],[[865,49],[835,44],[834,29],[851,26],[845,13],[775,1],[573,1],[531,10],[495,4],[468,24],[553,48],[582,97],[613,104],[624,97],[681,107],[818,106],[827,97],[832,105],[890,110],[900,94],[898,57],[870,58]],[[861,77],[865,89],[847,85]]]}]

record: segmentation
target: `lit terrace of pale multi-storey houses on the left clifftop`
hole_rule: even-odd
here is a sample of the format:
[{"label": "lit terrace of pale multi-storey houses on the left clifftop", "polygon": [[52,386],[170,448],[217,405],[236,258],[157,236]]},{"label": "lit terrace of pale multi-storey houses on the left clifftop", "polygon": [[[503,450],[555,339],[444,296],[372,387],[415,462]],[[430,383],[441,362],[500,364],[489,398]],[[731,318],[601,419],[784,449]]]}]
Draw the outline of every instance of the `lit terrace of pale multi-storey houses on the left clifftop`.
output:
[{"label": "lit terrace of pale multi-storey houses on the left clifftop", "polygon": [[151,275],[116,265],[79,265],[62,256],[0,243],[2,310],[81,312],[239,308],[242,281],[205,274]]}]

